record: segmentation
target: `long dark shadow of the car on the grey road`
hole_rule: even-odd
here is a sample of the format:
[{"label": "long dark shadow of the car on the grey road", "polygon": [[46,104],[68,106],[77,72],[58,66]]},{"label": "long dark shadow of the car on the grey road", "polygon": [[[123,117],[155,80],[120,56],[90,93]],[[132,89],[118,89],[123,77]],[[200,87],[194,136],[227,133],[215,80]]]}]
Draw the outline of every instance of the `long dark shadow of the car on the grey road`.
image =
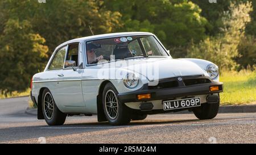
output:
[{"label": "long dark shadow of the car on the grey road", "polygon": [[67,123],[59,126],[48,126],[48,125],[31,125],[26,127],[11,127],[11,128],[0,128],[0,143],[6,143],[8,141],[26,140],[26,139],[38,139],[39,137],[51,137],[51,136],[62,136],[79,134],[85,132],[104,131],[108,129],[118,128],[129,128],[136,126],[147,125],[166,125],[166,124],[181,124],[181,123],[195,123],[201,122],[198,119],[187,119],[187,120],[140,120],[132,121],[127,125],[110,125],[108,122],[82,122],[82,123]]}]

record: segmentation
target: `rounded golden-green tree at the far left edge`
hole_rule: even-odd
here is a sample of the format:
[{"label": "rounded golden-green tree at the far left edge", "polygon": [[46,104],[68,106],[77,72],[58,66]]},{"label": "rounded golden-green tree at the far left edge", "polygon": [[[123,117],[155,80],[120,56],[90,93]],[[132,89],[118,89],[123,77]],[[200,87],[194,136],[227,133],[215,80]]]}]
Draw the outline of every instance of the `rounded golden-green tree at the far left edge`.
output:
[{"label": "rounded golden-green tree at the far left edge", "polygon": [[1,91],[22,91],[30,86],[32,75],[45,65],[48,47],[44,42],[27,20],[6,22],[0,36]]}]

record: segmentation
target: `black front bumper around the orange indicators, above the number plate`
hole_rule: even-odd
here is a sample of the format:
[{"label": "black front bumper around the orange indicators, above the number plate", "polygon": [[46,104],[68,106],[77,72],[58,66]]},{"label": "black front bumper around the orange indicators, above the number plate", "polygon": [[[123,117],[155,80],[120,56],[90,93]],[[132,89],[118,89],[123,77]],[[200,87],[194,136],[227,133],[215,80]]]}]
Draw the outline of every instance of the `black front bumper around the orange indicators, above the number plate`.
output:
[{"label": "black front bumper around the orange indicators, above the number plate", "polygon": [[[210,91],[210,86],[218,86],[218,91]],[[167,88],[167,89],[148,89],[148,85],[145,84],[141,89],[136,91],[131,91],[129,93],[120,93],[118,94],[118,98],[122,103],[128,102],[143,102],[149,100],[163,100],[163,99],[175,99],[179,97],[191,97],[195,95],[207,95],[207,94],[217,94],[223,91],[223,83],[222,82],[212,82],[212,83],[204,83],[199,85],[192,86],[180,86],[175,88]],[[150,99],[137,99],[137,95],[139,94],[151,94]]]}]

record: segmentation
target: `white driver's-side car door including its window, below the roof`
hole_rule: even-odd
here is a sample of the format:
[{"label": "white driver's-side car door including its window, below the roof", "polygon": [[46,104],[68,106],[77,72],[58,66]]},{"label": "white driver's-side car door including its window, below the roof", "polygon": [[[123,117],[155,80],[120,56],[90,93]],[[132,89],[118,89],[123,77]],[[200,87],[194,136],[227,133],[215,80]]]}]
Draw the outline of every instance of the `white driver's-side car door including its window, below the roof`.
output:
[{"label": "white driver's-side car door including its window, below the roof", "polygon": [[58,83],[59,93],[58,100],[60,104],[68,108],[69,112],[79,112],[79,107],[85,107],[82,95],[81,76],[84,70],[79,68],[79,47],[80,43],[72,43],[67,45],[67,53],[65,61],[76,61],[73,67],[64,65],[63,71],[60,73],[60,81]]}]

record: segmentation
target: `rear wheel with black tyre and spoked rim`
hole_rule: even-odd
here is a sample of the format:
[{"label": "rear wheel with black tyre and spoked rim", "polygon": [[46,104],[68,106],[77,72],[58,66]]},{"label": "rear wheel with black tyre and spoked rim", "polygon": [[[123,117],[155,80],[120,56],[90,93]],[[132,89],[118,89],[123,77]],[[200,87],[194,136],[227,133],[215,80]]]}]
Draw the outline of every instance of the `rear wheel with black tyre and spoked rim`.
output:
[{"label": "rear wheel with black tyre and spoked rim", "polygon": [[51,92],[44,89],[42,94],[42,110],[44,119],[48,125],[63,125],[66,119],[66,114],[57,108]]}]

